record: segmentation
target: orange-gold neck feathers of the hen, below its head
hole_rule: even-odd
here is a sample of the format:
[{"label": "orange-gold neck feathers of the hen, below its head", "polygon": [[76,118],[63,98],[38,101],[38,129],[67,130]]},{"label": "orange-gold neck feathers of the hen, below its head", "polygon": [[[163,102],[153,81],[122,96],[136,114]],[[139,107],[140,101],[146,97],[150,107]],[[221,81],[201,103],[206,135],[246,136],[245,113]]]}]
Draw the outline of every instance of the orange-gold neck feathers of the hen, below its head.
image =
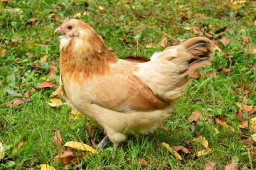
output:
[{"label": "orange-gold neck feathers of the hen, below its head", "polygon": [[60,72],[77,80],[88,79],[94,74],[103,75],[110,70],[110,63],[117,58],[106,48],[97,33],[60,40]]}]

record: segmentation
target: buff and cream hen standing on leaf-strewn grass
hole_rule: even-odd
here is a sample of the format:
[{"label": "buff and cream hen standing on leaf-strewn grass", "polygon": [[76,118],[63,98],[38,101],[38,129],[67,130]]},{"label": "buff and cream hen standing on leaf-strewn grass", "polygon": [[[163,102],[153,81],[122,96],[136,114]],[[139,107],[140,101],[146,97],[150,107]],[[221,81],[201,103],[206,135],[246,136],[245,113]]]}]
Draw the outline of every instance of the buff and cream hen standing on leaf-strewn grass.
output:
[{"label": "buff and cream hen standing on leaf-strewn grass", "polygon": [[81,20],[66,20],[60,36],[60,87],[71,107],[105,129],[101,149],[131,134],[148,134],[167,122],[190,73],[210,63],[214,44],[194,37],[154,53],[146,63],[116,58],[102,37]]}]

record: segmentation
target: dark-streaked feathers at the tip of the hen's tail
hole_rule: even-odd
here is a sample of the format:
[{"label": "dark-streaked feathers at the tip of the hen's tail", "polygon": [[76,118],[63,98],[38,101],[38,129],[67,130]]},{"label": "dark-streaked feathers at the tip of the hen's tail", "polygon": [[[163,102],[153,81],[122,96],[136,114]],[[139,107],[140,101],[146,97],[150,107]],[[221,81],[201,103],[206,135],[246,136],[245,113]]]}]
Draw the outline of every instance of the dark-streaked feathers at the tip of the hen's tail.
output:
[{"label": "dark-streaked feathers at the tip of the hen's tail", "polygon": [[191,53],[193,57],[189,63],[189,68],[183,74],[188,75],[196,69],[202,68],[210,64],[210,60],[214,56],[215,45],[205,37],[194,37],[182,44],[186,47],[186,51]]}]

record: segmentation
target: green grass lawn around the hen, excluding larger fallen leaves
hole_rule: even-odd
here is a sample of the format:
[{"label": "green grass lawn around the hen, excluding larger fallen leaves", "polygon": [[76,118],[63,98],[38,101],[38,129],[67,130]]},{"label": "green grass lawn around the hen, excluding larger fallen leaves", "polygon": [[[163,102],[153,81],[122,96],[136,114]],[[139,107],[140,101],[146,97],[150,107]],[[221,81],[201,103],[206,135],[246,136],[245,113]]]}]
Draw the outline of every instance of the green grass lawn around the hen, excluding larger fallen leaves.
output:
[{"label": "green grass lawn around the hen, excluding larger fallen leaves", "polygon": [[[105,10],[100,10],[102,6]],[[204,169],[204,164],[215,161],[219,169],[223,169],[234,158],[239,168],[256,169],[256,151],[252,145],[241,144],[241,133],[236,128],[241,123],[236,118],[238,107],[235,102],[242,103],[242,91],[249,90],[246,95],[247,105],[255,106],[256,71],[252,65],[256,63],[253,45],[256,44],[256,2],[247,1],[240,9],[231,9],[231,1],[10,1],[4,6],[0,2],[0,42],[6,48],[5,55],[0,56],[0,100],[6,103],[15,98],[6,90],[15,90],[24,94],[31,90],[30,101],[17,107],[0,107],[0,142],[4,144],[6,156],[0,160],[0,169],[39,169],[39,164],[52,164],[56,169],[63,169],[60,164],[52,163],[60,150],[52,144],[55,129],[60,129],[65,142],[79,141],[90,144],[86,118],[73,120],[71,109],[67,106],[50,107],[47,102],[52,98],[52,91],[36,90],[41,82],[47,79],[50,61],[58,61],[58,36],[54,30],[62,21],[50,14],[65,20],[84,11],[89,15],[81,15],[80,19],[91,25],[111,47],[119,58],[126,56],[150,57],[153,52],[163,50],[161,45],[146,48],[150,43],[160,42],[168,36],[169,45],[178,41],[198,36],[185,27],[197,26],[201,32],[212,25],[209,33],[214,36],[223,52],[216,51],[212,65],[201,71],[201,78],[191,80],[186,93],[177,102],[177,109],[170,115],[166,127],[171,133],[159,129],[149,136],[131,137],[116,156],[110,156],[110,149],[95,156],[87,156],[78,164],[78,169],[141,169],[138,158],[148,160],[143,169]],[[19,8],[20,12],[15,12]],[[36,18],[31,24],[30,18]],[[215,28],[215,25],[217,28]],[[226,27],[225,31],[215,33],[217,29]],[[199,36],[204,36],[199,34]],[[242,44],[242,36],[249,36],[249,42]],[[221,37],[230,37],[230,44],[224,46]],[[137,45],[119,41],[126,38],[129,42],[138,41]],[[18,39],[14,43],[11,39]],[[33,53],[27,56],[26,53]],[[230,62],[225,54],[232,59]],[[49,55],[47,61],[39,61],[41,56]],[[39,69],[33,63],[39,63]],[[230,74],[222,72],[222,68],[230,68]],[[206,71],[217,72],[212,78]],[[59,72],[56,79],[58,84]],[[26,85],[19,89],[19,85]],[[187,117],[193,110],[199,110],[204,119],[196,124],[196,131],[189,129]],[[225,115],[226,122],[235,129],[229,133],[215,123],[210,123],[212,115]],[[244,120],[255,117],[244,112]],[[102,139],[102,129],[92,122],[95,134],[94,141]],[[214,128],[220,133],[215,134]],[[243,135],[251,134],[242,131]],[[194,153],[201,150],[201,145],[193,144],[191,154],[182,155],[183,161],[177,159],[161,146],[166,142],[170,146],[183,145],[197,135],[205,136],[212,149],[206,156],[197,158]],[[16,153],[11,153],[18,142],[24,145]],[[253,144],[255,145],[255,143]],[[111,144],[108,144],[111,147]],[[81,152],[76,152],[81,153]],[[250,157],[250,158],[249,158]],[[10,163],[15,163],[11,165]],[[71,165],[66,169],[72,169]]]}]

